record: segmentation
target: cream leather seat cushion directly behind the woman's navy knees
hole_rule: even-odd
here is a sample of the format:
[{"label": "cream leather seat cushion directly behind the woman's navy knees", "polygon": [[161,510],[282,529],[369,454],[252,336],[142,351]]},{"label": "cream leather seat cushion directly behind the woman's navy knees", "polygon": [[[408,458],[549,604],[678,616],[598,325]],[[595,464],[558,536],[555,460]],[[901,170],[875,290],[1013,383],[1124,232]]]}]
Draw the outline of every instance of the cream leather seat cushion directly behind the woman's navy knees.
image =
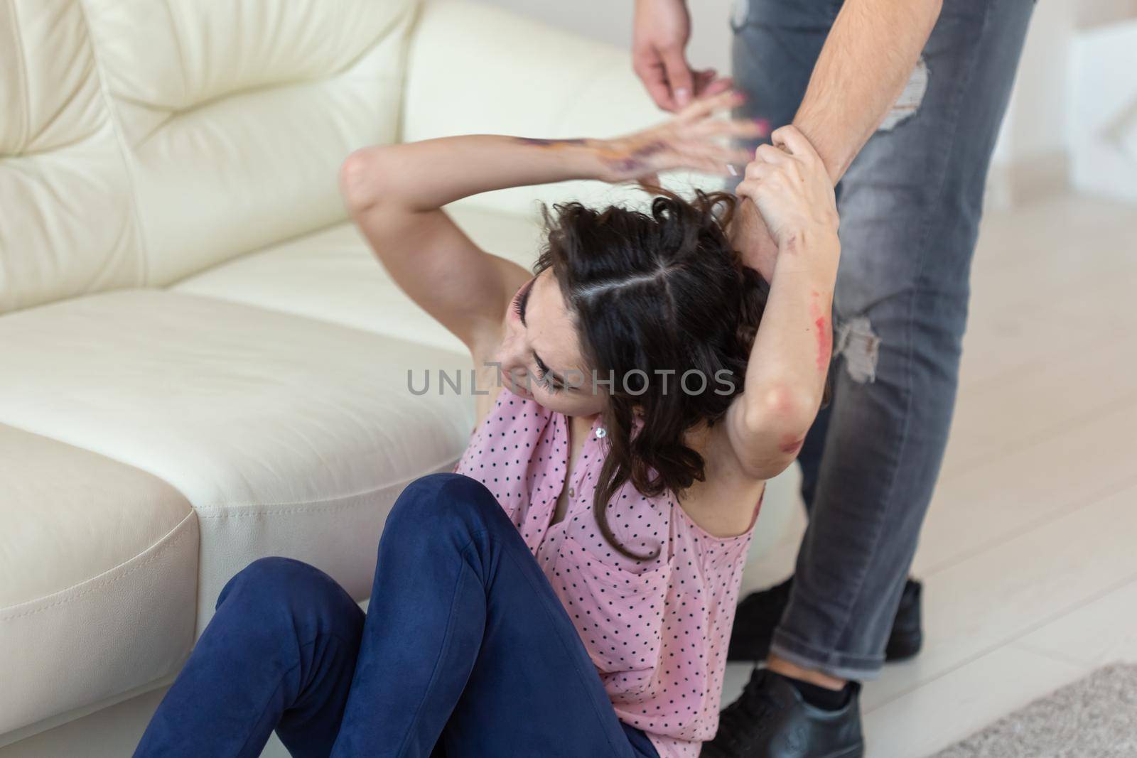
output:
[{"label": "cream leather seat cushion directly behind the woman's navy knees", "polygon": [[[316,286],[316,284],[313,284]],[[0,318],[0,423],[155,474],[197,511],[199,627],[250,560],[319,566],[370,592],[388,509],[448,469],[473,402],[408,369],[468,356],[183,293],[111,292]]]}]

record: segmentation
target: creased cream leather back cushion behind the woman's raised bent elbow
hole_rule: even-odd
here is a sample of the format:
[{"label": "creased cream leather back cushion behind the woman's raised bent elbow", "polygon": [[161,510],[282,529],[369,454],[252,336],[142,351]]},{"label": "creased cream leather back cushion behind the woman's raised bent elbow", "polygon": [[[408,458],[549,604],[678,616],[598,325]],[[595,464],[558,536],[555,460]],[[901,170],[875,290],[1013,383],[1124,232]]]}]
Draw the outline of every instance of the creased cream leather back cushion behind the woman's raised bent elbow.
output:
[{"label": "creased cream leather back cushion behind the woman's raised bent elbow", "polygon": [[416,0],[82,5],[149,284],[343,219],[343,158],[396,138]]}]

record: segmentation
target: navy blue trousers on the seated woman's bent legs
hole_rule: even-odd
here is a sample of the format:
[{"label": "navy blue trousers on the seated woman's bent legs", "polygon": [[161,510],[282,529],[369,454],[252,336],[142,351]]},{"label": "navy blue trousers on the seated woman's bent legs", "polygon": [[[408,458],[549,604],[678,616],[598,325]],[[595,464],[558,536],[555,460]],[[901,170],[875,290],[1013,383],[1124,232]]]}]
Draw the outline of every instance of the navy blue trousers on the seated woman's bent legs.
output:
[{"label": "navy blue trousers on the seated woman's bent legs", "polygon": [[263,558],[230,580],[135,756],[658,758],[621,724],[537,560],[482,484],[434,474],[387,519],[366,617]]}]

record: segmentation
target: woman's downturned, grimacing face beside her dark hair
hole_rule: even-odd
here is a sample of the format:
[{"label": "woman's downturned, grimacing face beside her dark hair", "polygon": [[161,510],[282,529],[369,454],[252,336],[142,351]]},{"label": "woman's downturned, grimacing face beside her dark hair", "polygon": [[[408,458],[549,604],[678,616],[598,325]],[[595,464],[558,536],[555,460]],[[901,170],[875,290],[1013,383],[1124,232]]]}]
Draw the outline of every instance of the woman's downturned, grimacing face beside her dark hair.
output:
[{"label": "woman's downturned, grimacing face beside her dark hair", "polygon": [[605,388],[594,392],[591,368],[551,269],[514,294],[497,360],[506,386],[549,410],[566,416],[604,410]]}]

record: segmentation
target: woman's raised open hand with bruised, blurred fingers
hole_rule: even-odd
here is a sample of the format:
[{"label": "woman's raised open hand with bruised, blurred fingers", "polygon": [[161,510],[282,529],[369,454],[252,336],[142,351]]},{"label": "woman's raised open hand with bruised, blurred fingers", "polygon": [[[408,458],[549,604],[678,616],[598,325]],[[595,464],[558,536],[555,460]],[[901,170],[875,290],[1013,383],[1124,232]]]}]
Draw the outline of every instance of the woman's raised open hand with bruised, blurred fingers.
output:
[{"label": "woman's raised open hand with bruised, blurred fingers", "polygon": [[[729,86],[729,83],[727,84]],[[714,114],[742,102],[733,90],[695,100],[679,115],[658,126],[628,136],[597,142],[606,182],[639,181],[658,183],[657,174],[672,168],[689,168],[706,174],[739,173],[750,159],[748,150],[733,144],[736,139],[764,136],[761,124],[749,119],[714,118]]]}]

